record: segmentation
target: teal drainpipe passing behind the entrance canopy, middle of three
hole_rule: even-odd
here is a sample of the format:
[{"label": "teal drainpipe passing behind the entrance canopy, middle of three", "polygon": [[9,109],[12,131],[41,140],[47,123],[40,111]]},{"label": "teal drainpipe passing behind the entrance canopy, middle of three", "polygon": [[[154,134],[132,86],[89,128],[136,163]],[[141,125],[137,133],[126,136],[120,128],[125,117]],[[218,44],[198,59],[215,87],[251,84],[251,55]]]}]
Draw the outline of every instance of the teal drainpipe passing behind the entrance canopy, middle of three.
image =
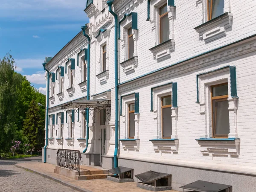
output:
[{"label": "teal drainpipe passing behind the entrance canopy, middle of three", "polygon": [[[85,33],[88,26],[81,26],[83,35],[87,38],[87,100],[90,100],[90,37]],[[83,153],[87,151],[89,140],[89,109],[86,109],[86,148]]]}]

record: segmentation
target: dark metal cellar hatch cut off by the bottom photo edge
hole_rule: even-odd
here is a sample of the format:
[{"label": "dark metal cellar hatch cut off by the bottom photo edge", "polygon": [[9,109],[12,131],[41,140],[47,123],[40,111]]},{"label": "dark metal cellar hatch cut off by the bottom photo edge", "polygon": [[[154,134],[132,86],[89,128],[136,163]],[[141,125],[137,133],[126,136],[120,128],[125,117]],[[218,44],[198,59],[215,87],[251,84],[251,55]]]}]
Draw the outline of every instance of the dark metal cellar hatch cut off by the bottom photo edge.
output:
[{"label": "dark metal cellar hatch cut off by the bottom photo edge", "polygon": [[232,192],[232,186],[220,183],[212,183],[204,180],[197,180],[193,183],[186,184],[180,188],[193,190],[190,192]]}]

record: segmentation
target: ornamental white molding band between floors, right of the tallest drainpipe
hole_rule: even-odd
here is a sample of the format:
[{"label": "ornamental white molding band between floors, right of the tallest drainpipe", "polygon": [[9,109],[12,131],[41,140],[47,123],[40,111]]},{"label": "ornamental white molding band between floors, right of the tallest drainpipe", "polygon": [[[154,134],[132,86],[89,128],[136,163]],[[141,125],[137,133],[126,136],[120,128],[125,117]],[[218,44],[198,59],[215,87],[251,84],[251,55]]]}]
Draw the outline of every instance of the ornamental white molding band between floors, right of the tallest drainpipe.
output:
[{"label": "ornamental white molding band between floors, right of the tallest drainpipe", "polygon": [[253,51],[256,51],[256,39],[250,38],[244,40],[243,43],[239,45],[230,45],[227,48],[225,47],[223,49],[219,49],[217,52],[211,52],[209,53],[210,55],[202,55],[201,57],[194,58],[189,61],[179,61],[180,63],[177,62],[173,67],[166,67],[165,70],[152,73],[148,76],[128,82],[124,85],[119,85],[119,91],[122,93],[124,91],[133,90],[136,87],[141,87],[154,81],[162,81],[170,77],[173,78],[173,76],[178,76],[182,73],[187,73],[189,71],[216,64],[230,58],[238,57],[240,55],[245,55]]}]

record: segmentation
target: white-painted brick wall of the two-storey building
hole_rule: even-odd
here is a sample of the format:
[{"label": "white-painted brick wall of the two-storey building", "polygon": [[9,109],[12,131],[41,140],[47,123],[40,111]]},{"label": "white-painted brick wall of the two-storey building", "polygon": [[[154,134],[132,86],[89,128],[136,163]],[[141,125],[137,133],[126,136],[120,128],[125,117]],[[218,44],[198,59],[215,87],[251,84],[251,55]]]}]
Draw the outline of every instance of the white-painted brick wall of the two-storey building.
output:
[{"label": "white-painted brick wall of the two-storey building", "polygon": [[[152,4],[157,4],[160,1],[151,0]],[[121,4],[120,4],[121,3]],[[122,3],[126,3],[122,6]],[[145,75],[154,70],[166,67],[171,64],[183,61],[187,58],[191,58],[195,55],[211,51],[212,49],[230,44],[238,41],[242,38],[246,38],[255,34],[256,16],[253,12],[256,8],[255,0],[246,0],[241,3],[239,0],[225,0],[224,12],[231,11],[233,14],[232,26],[227,29],[221,38],[215,39],[206,43],[204,40],[199,39],[198,32],[194,29],[196,26],[202,24],[202,20],[205,19],[205,13],[203,8],[205,6],[205,0],[176,0],[175,1],[175,14],[173,22],[173,33],[175,40],[175,50],[171,52],[171,58],[159,61],[154,59],[150,48],[157,45],[156,43],[156,30],[155,26],[158,25],[157,20],[146,21],[147,18],[147,1],[119,1],[114,2],[113,9],[117,10],[119,20],[122,19],[124,13],[137,12],[138,13],[138,66],[134,72],[125,74],[122,67],[119,66],[119,82],[129,81],[136,77]],[[99,3],[100,5],[100,3]],[[135,6],[131,6],[135,5]],[[115,7],[118,6],[118,7]],[[127,9],[129,7],[129,9]],[[151,19],[154,18],[154,10],[151,7]],[[100,10],[101,11],[101,10]],[[170,14],[170,13],[169,13]],[[153,15],[153,16],[152,16]],[[154,22],[153,22],[154,21]],[[99,23],[106,23],[101,27]],[[105,33],[101,34],[99,38],[94,38],[99,29],[110,30],[109,36]],[[114,124],[115,124],[115,94],[114,94],[114,20],[112,15],[109,15],[108,9],[105,9],[102,13],[92,15],[90,17],[90,95],[101,93],[106,90],[111,90],[111,120],[110,125],[107,126],[107,133],[110,134],[107,155],[113,156],[114,152]],[[121,30],[121,37],[122,37]],[[104,42],[108,42],[107,52],[109,55],[107,65],[109,70],[109,77],[105,84],[100,84],[96,75],[100,73],[100,55],[101,45]],[[125,53],[122,42],[119,40],[119,60],[123,61]],[[69,47],[71,46],[71,47]],[[244,47],[247,46],[247,47]],[[255,140],[256,140],[256,41],[252,38],[249,41],[244,41],[239,44],[232,45],[230,47],[210,52],[200,58],[186,61],[178,66],[165,70],[165,73],[159,72],[145,77],[143,81],[132,81],[129,84],[120,86],[119,96],[128,93],[139,92],[140,93],[140,116],[139,116],[139,150],[126,150],[122,149],[122,143],[120,142],[120,156],[122,157],[136,157],[141,159],[155,160],[160,159],[166,162],[172,162],[175,160],[192,161],[192,162],[205,162],[205,163],[224,163],[229,165],[248,165],[256,167],[255,157]],[[77,64],[77,53],[80,49],[87,48],[86,38],[81,33],[77,35],[67,47],[64,47],[60,53],[58,53],[52,61],[47,64],[50,72],[56,73],[56,69],[59,65],[65,66],[68,58],[75,58]],[[254,50],[254,51],[253,51]],[[82,56],[82,54],[80,54]],[[198,62],[200,64],[198,65]],[[226,65],[236,66],[237,77],[237,93],[239,96],[239,104],[237,111],[237,132],[241,140],[240,154],[237,158],[217,156],[203,156],[201,148],[198,142],[195,140],[205,133],[205,115],[199,113],[200,106],[196,104],[196,75],[202,72],[217,69]],[[149,78],[149,79],[148,79]],[[58,77],[59,80],[59,77]],[[67,74],[64,75],[64,99],[59,101],[56,93],[58,93],[58,80],[55,83],[55,102],[50,104],[49,107],[63,104],[74,99],[84,97],[87,92],[82,92],[78,83],[81,82],[80,67],[76,66],[75,70],[75,93],[73,96],[68,96],[66,89],[68,88]],[[157,135],[157,122],[159,119],[155,118],[155,113],[150,112],[150,90],[151,87],[157,85],[177,82],[178,87],[178,119],[177,119],[177,135],[179,139],[179,146],[177,153],[156,153],[152,142],[149,139],[154,139]],[[91,98],[93,99],[93,98]],[[125,103],[123,102],[123,105]],[[51,111],[53,110],[53,111]],[[52,108],[49,114],[62,112],[58,107]],[[123,111],[125,113],[125,111]],[[98,118],[98,117],[97,117]],[[120,117],[120,138],[125,136],[125,122]],[[81,117],[79,118],[81,121]],[[56,116],[55,116],[56,121]],[[66,113],[64,112],[64,138],[67,138],[67,124]],[[94,142],[94,146],[89,145],[87,151],[98,152],[99,143],[98,129],[93,128],[95,124],[92,123],[90,117],[90,140],[89,143]],[[77,113],[75,113],[75,146],[76,149],[83,150],[85,141],[78,141],[77,138],[81,134],[81,122],[77,122]],[[58,125],[55,125],[55,129]],[[94,131],[94,132],[93,132]],[[96,132],[95,132],[96,131]],[[93,137],[93,133],[96,134]],[[93,137],[93,140],[91,138]],[[60,148],[58,142],[55,140],[52,144],[49,144],[49,148]],[[68,146],[66,140],[64,140],[64,148],[72,149],[73,146]]]}]

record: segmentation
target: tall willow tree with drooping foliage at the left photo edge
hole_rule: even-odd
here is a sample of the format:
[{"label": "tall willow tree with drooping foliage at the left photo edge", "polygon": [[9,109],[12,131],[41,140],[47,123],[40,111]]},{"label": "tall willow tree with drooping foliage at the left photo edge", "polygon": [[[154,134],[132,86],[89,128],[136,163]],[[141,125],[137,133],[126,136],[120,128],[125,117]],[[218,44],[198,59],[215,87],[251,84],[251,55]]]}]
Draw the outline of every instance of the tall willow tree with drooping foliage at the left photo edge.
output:
[{"label": "tall willow tree with drooping foliage at the left photo edge", "polygon": [[15,137],[15,105],[20,76],[15,73],[12,55],[0,59],[0,150],[7,151]]}]

